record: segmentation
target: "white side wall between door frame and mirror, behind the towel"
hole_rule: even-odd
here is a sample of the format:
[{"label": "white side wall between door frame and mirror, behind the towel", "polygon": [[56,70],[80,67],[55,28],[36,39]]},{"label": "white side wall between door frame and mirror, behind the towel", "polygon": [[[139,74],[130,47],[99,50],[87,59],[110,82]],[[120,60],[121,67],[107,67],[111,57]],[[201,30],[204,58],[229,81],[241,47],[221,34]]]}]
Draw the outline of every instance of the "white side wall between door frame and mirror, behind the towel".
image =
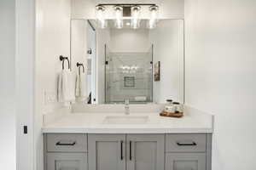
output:
[{"label": "white side wall between door frame and mirror, behind the towel", "polygon": [[[57,102],[57,77],[61,71],[60,55],[70,55],[70,0],[37,0],[35,105],[34,114],[37,164],[43,168],[43,114],[61,108]],[[66,67],[67,67],[67,61]],[[52,98],[49,101],[47,98]]]}]

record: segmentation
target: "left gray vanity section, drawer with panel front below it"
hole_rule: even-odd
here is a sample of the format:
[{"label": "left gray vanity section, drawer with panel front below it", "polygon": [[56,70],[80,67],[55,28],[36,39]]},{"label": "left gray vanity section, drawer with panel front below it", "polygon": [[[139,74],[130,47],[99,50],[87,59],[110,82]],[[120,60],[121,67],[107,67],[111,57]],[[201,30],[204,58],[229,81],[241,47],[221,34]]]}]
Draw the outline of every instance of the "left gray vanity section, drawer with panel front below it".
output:
[{"label": "left gray vanity section, drawer with panel front below it", "polygon": [[88,170],[87,134],[44,135],[45,170]]}]

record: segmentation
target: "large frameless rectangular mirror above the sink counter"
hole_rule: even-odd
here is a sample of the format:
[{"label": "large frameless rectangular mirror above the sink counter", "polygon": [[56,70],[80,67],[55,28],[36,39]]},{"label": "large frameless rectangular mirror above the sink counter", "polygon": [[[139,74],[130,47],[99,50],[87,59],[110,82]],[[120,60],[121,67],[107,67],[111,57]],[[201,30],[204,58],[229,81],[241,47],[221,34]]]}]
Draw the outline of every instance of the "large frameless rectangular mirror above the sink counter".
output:
[{"label": "large frameless rectangular mirror above the sink counter", "polygon": [[84,58],[88,104],[183,103],[183,20],[147,23],[72,20],[71,58]]}]

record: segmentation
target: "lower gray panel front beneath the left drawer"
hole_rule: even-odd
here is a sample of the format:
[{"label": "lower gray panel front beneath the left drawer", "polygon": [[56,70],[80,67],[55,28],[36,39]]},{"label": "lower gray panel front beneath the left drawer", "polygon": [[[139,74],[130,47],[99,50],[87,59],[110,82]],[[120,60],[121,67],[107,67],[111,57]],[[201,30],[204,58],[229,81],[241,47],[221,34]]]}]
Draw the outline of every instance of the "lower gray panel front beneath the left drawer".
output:
[{"label": "lower gray panel front beneath the left drawer", "polygon": [[87,170],[86,153],[48,153],[47,170]]}]

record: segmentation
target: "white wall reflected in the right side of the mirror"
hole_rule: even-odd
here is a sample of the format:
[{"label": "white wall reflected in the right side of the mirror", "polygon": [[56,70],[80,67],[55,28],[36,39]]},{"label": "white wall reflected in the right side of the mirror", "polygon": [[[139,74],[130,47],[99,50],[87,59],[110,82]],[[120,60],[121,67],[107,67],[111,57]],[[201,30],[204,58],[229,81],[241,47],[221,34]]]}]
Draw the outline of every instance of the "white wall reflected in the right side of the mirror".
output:
[{"label": "white wall reflected in the right side of the mirror", "polygon": [[153,62],[160,61],[160,81],[153,82],[154,102],[172,99],[183,103],[183,20],[160,20],[150,31],[150,39]]}]

